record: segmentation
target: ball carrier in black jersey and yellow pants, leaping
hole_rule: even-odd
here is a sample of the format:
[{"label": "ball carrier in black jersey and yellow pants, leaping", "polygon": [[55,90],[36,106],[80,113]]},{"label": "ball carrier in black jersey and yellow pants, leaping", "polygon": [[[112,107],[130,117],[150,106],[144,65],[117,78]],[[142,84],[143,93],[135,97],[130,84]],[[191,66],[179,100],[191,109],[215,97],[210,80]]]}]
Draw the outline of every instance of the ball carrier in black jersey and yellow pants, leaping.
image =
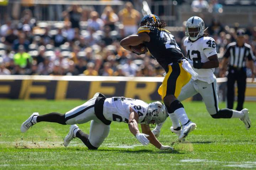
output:
[{"label": "ball carrier in black jersey and yellow pants, leaping", "polygon": [[[166,23],[160,21],[156,15],[147,15],[142,18],[140,28],[136,35],[130,35],[121,40],[120,44],[124,49],[133,52],[131,46],[145,45],[151,55],[158,61],[166,71],[162,85],[158,89],[159,95],[165,103],[171,118],[178,118],[182,124],[182,132],[179,140],[186,137],[189,132],[196,128],[196,124],[187,117],[185,109],[177,97],[181,88],[188,83],[191,75],[182,68],[184,58],[178,47],[174,36],[164,27]],[[177,131],[181,130],[175,129]]]}]

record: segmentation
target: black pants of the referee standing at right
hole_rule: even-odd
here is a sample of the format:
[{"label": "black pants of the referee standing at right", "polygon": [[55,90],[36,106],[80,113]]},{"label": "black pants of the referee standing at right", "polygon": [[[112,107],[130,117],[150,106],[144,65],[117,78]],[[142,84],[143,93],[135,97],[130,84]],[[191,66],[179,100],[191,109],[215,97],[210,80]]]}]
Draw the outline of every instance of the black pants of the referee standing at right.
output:
[{"label": "black pants of the referee standing at right", "polygon": [[227,82],[227,108],[233,109],[234,99],[235,99],[235,81],[238,87],[238,105],[236,107],[237,111],[243,109],[245,89],[246,89],[246,68],[229,68],[228,82]]}]

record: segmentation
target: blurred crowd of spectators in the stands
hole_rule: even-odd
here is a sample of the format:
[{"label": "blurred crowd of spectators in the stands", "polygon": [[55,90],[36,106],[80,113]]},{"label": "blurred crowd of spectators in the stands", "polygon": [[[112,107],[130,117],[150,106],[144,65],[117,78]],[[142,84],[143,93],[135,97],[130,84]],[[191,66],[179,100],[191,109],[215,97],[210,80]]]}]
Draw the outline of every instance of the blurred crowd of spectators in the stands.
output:
[{"label": "blurred crowd of spectators in the stands", "polygon": [[[196,5],[192,7],[198,8]],[[154,77],[164,73],[150,53],[138,56],[119,45],[137,31],[143,17],[131,2],[121,11],[107,6],[102,13],[72,5],[62,17],[64,22],[38,23],[26,9],[18,23],[7,19],[0,26],[0,74]],[[81,26],[80,21],[86,24]],[[209,25],[207,32],[215,39],[220,55],[235,40],[238,28],[223,26],[217,20]],[[246,42],[255,51],[256,28],[246,28],[246,34]],[[185,31],[176,34],[181,47],[184,37]],[[186,54],[184,50],[182,47]]]}]

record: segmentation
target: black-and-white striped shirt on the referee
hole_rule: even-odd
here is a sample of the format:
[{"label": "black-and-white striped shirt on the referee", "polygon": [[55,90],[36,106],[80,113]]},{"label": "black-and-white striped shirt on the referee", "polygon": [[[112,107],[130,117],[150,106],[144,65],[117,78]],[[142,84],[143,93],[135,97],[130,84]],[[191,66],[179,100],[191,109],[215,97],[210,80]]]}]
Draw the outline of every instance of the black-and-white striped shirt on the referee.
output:
[{"label": "black-and-white striped shirt on the referee", "polygon": [[223,57],[229,58],[229,66],[246,67],[246,60],[254,60],[254,53],[249,44],[244,43],[243,46],[237,46],[236,42],[231,42],[226,47]]}]

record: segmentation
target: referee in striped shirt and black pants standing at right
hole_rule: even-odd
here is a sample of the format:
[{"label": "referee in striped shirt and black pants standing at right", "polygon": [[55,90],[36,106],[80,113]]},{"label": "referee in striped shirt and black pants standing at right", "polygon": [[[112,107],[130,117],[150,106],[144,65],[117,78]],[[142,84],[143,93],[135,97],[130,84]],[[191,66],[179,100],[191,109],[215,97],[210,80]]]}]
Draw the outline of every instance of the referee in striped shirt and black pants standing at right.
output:
[{"label": "referee in striped shirt and black pants standing at right", "polygon": [[[220,76],[224,77],[227,65],[228,82],[227,82],[227,108],[233,109],[234,105],[234,84],[237,81],[238,87],[238,105],[237,111],[243,109],[245,89],[246,89],[246,66],[252,71],[252,81],[255,77],[254,54],[251,46],[245,43],[245,32],[242,29],[236,32],[236,42],[231,42],[226,47],[220,66]],[[229,64],[228,64],[229,63]]]}]

